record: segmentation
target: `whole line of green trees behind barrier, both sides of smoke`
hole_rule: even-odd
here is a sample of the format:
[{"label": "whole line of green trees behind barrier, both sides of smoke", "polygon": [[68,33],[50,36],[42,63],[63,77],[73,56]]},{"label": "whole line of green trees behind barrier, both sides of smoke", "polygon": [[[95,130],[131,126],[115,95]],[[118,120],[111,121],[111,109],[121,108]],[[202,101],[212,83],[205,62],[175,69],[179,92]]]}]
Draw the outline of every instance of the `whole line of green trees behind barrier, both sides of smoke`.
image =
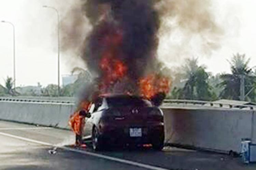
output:
[{"label": "whole line of green trees behind barrier, both sides of smoke", "polygon": [[[256,71],[249,67],[250,58],[245,54],[234,54],[230,61],[231,73],[218,73],[212,75],[207,67],[198,64],[198,58],[188,58],[184,65],[176,71],[167,69],[171,75],[172,87],[167,95],[169,99],[215,101],[218,99],[246,100],[256,102]],[[169,71],[169,72],[168,72]],[[77,74],[74,83],[61,87],[60,96],[76,96],[81,87],[92,81],[91,74],[82,68],[74,68],[71,72]],[[13,80],[7,77],[5,86],[0,85],[0,96],[48,96],[57,97],[58,86],[49,84],[37,89],[21,87],[13,89]]]}]

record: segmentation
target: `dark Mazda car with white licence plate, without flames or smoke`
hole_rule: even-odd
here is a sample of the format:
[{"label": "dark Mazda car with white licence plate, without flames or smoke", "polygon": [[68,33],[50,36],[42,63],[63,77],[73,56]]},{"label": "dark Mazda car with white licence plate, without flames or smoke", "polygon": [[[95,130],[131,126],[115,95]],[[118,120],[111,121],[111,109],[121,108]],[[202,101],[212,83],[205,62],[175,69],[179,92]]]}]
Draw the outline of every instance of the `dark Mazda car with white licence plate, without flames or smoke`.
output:
[{"label": "dark Mazda car with white licence plate, without flames or smoke", "polygon": [[91,128],[94,150],[144,144],[157,150],[163,148],[163,113],[148,100],[129,95],[100,96],[89,112],[85,128]]}]

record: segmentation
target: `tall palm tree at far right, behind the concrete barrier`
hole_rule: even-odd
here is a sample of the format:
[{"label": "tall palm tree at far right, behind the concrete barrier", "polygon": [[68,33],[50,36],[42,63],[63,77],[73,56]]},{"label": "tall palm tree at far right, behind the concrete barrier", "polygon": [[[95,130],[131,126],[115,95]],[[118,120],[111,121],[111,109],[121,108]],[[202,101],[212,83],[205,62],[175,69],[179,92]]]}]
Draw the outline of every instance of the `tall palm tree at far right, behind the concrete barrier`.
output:
[{"label": "tall palm tree at far right, behind the concrete barrier", "polygon": [[[255,92],[252,88],[255,85],[255,76],[253,75],[252,68],[248,66],[250,58],[246,59],[245,54],[240,55],[237,53],[233,54],[231,61],[231,74],[222,74],[222,82],[219,87],[223,87],[220,97],[240,100],[241,99],[241,79],[244,79],[244,91],[247,94],[247,100],[255,96]],[[242,87],[243,88],[243,87]]]}]

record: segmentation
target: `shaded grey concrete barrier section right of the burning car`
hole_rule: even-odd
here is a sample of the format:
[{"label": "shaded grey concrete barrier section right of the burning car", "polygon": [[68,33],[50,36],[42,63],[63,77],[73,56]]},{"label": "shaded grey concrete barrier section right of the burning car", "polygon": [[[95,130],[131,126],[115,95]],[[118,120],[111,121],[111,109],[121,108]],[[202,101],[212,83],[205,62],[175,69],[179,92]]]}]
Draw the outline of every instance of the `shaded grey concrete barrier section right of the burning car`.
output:
[{"label": "shaded grey concrete barrier section right of the burning car", "polygon": [[162,109],[167,143],[221,152],[240,152],[242,138],[256,141],[256,117],[252,110]]}]

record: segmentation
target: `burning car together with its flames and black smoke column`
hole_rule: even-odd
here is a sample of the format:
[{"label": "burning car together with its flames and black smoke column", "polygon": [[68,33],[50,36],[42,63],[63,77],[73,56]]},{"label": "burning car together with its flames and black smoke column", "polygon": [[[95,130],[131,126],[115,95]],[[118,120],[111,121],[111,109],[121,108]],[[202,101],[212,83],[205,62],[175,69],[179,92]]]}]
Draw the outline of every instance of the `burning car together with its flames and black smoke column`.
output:
[{"label": "burning car together with its flames and black smoke column", "polygon": [[[157,1],[86,0],[81,5],[91,30],[77,48],[90,80],[78,93],[73,115],[81,119],[75,119],[77,127],[71,128],[78,139],[90,130],[95,150],[110,144],[162,149],[163,114],[157,106],[169,93],[171,76],[157,56],[161,22]],[[72,29],[79,31],[74,23]],[[71,39],[79,35],[67,34]],[[66,47],[75,50],[73,41],[65,39]],[[108,93],[132,95],[101,95]],[[84,129],[85,117],[77,114],[81,110],[91,114]]]}]

